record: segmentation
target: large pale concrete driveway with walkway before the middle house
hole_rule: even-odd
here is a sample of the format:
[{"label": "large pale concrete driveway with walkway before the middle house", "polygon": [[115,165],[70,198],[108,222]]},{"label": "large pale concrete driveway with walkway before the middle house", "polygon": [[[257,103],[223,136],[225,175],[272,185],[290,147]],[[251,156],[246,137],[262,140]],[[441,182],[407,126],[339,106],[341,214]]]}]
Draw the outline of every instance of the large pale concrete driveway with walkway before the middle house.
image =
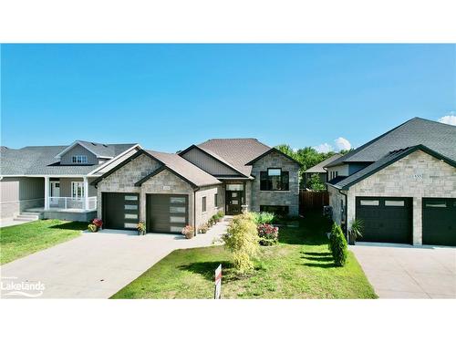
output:
[{"label": "large pale concrete driveway with walkway before the middle house", "polygon": [[173,250],[211,245],[227,224],[217,223],[191,240],[175,234],[84,232],[74,240],[2,265],[1,296],[109,298]]}]

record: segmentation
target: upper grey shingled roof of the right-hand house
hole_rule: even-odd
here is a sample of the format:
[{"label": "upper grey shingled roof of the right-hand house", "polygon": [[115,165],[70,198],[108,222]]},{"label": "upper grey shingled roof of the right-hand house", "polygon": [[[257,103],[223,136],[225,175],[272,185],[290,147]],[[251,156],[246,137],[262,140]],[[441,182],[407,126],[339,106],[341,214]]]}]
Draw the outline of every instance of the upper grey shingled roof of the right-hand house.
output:
[{"label": "upper grey shingled roof of the right-hand house", "polygon": [[415,145],[427,146],[451,160],[456,160],[456,126],[428,119],[409,119],[326,166],[346,162],[374,162],[388,155],[391,150],[401,150]]}]

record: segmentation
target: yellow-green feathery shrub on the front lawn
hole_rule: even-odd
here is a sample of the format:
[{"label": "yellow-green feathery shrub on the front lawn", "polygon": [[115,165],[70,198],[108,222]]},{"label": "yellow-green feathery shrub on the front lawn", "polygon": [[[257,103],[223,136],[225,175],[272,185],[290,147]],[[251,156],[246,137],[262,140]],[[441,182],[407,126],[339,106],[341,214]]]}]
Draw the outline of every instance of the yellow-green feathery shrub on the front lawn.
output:
[{"label": "yellow-green feathery shrub on the front lawn", "polygon": [[256,224],[249,213],[235,216],[223,234],[225,248],[231,252],[233,264],[239,274],[245,274],[254,269],[254,257],[259,252],[258,233]]}]

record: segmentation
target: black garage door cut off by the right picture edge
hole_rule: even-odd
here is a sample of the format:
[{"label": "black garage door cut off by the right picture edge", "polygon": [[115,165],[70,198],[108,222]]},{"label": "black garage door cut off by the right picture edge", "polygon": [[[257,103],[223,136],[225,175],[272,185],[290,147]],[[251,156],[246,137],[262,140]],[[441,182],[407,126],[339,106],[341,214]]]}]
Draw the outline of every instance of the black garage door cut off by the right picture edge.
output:
[{"label": "black garage door cut off by the right picture edge", "polygon": [[422,199],[422,242],[456,246],[456,199]]}]

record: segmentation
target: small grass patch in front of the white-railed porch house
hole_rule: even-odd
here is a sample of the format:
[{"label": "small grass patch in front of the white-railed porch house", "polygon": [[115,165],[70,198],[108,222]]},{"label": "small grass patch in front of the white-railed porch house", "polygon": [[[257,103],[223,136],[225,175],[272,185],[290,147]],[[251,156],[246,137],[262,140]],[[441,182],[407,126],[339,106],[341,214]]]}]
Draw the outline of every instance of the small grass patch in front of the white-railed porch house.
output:
[{"label": "small grass patch in front of the white-railed porch house", "polygon": [[73,239],[88,223],[40,220],[0,228],[0,264]]}]

